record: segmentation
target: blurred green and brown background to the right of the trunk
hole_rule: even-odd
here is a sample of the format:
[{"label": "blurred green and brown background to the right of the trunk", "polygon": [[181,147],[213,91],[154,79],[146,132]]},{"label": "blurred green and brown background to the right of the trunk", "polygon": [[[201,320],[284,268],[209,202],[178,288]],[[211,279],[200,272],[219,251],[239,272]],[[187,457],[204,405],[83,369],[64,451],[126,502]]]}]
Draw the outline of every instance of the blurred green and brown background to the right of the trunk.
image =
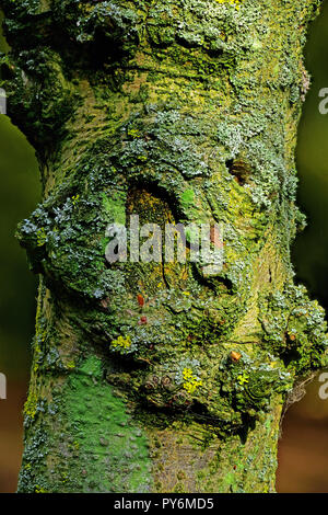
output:
[{"label": "blurred green and brown background to the right of the trunk", "polygon": [[[312,87],[298,129],[298,205],[308,226],[297,237],[293,263],[297,279],[328,312],[328,114],[319,113],[319,91],[328,88],[328,1],[312,26],[306,46]],[[290,408],[279,448],[280,492],[328,493],[328,400],[316,378],[306,397]]]}]

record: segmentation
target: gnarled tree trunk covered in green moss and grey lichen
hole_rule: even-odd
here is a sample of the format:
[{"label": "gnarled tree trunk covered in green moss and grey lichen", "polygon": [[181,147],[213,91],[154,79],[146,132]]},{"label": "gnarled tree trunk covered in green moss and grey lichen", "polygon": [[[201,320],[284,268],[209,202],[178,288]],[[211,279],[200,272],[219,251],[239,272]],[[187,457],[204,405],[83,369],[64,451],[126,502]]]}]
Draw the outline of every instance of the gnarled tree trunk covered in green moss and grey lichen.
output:
[{"label": "gnarled tree trunk covered in green moss and grey lichen", "polygon": [[[2,4],[44,186],[19,229],[40,274],[19,491],[273,492],[283,404],[327,363],[290,261],[320,1]],[[108,264],[130,215],[220,224],[223,267]]]}]

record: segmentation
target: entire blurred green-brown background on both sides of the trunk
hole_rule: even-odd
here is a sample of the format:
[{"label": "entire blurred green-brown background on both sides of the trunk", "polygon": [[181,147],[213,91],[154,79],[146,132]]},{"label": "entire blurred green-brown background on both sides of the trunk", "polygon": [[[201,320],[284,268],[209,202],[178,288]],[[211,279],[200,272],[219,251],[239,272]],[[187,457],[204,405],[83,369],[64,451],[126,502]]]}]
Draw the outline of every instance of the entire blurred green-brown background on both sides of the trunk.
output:
[{"label": "entire blurred green-brown background on both sides of the trunk", "polygon": [[[0,34],[0,52],[5,49]],[[298,204],[308,216],[308,227],[297,238],[293,261],[298,281],[328,310],[328,115],[318,111],[318,92],[328,88],[327,57],[326,1],[306,48],[313,84],[300,126],[297,163]],[[8,400],[0,401],[0,492],[16,488],[36,296],[36,279],[28,272],[14,232],[39,198],[34,151],[9,118],[0,115],[0,371],[8,378]],[[328,400],[319,399],[319,386],[315,379],[305,398],[288,411],[283,421],[279,492],[328,493]]]}]

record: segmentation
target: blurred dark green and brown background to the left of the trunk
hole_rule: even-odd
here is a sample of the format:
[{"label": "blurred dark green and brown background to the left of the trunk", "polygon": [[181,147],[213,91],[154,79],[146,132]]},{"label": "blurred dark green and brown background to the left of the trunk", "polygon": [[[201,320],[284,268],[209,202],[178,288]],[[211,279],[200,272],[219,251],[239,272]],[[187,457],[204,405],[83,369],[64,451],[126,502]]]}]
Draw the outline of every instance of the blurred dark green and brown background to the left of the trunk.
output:
[{"label": "blurred dark green and brown background to the left of the trunk", "polygon": [[[5,50],[0,34],[0,52]],[[17,482],[36,296],[36,278],[14,232],[39,198],[34,150],[0,115],[0,371],[8,380],[8,400],[0,401],[0,492],[15,491]]]}]

